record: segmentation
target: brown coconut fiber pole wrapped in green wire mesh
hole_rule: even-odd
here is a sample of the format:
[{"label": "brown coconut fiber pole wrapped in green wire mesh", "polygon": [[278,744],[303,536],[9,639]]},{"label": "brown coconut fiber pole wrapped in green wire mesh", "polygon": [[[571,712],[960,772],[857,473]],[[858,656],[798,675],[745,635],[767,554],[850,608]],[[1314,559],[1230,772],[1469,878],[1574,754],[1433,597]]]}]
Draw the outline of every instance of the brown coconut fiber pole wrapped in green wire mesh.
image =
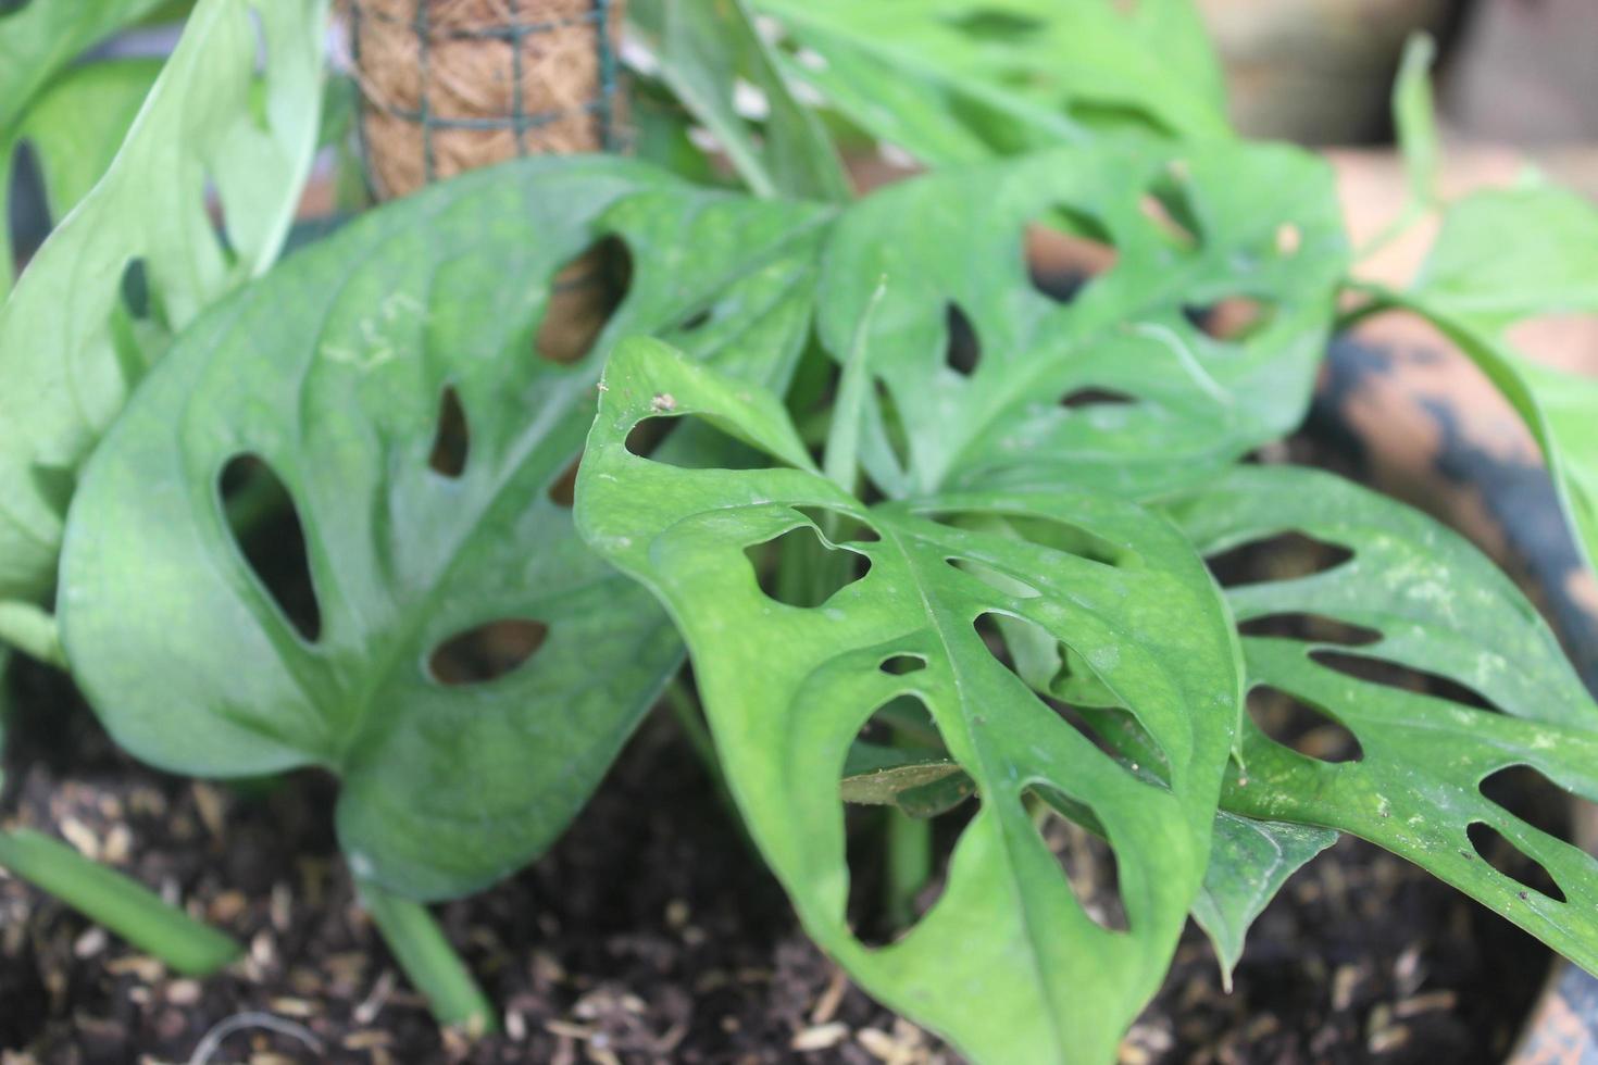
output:
[{"label": "brown coconut fiber pole wrapped in green wire mesh", "polygon": [[348,0],[388,200],[518,155],[617,148],[625,0]]}]

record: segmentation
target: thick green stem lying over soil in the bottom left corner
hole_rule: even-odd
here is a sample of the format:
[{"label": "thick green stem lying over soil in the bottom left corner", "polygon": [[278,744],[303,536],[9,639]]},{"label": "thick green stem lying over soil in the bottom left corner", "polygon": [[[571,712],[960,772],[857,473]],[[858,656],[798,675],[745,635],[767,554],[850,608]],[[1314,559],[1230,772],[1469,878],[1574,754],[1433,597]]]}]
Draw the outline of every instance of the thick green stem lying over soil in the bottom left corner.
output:
[{"label": "thick green stem lying over soil in the bottom left corner", "polygon": [[149,888],[30,829],[0,832],[0,865],[179,972],[206,976],[243,953]]}]

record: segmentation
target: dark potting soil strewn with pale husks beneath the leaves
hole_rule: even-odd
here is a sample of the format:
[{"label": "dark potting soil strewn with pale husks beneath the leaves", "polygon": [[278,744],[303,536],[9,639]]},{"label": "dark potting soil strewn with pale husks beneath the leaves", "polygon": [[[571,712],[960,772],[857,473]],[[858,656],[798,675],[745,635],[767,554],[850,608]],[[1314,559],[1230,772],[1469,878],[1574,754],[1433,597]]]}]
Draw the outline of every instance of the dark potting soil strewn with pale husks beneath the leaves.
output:
[{"label": "dark potting soil strewn with pale husks beneath the leaves", "polygon": [[[163,776],[115,752],[54,675],[24,666],[14,683],[8,819],[181,897],[249,952],[182,979],[0,880],[8,1065],[187,1062],[243,1012],[300,1031],[244,1028],[209,1060],[959,1060],[809,945],[670,719],[644,725],[543,861],[439,909],[503,1011],[500,1035],[468,1044],[439,1036],[356,907],[331,782],[251,794]],[[1509,923],[1344,840],[1264,913],[1232,993],[1191,928],[1122,1060],[1496,1062],[1547,964]]]}]

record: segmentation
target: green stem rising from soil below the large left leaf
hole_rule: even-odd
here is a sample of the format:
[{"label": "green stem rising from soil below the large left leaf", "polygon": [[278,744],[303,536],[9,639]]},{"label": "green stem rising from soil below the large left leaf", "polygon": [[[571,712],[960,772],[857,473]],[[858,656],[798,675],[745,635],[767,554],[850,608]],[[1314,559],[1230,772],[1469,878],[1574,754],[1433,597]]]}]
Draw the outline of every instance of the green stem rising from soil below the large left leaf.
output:
[{"label": "green stem rising from soil below the large left leaf", "polygon": [[470,1036],[499,1030],[494,1006],[471,979],[427,907],[369,880],[358,881],[361,902],[384,934],[411,985],[427,996],[438,1022]]}]

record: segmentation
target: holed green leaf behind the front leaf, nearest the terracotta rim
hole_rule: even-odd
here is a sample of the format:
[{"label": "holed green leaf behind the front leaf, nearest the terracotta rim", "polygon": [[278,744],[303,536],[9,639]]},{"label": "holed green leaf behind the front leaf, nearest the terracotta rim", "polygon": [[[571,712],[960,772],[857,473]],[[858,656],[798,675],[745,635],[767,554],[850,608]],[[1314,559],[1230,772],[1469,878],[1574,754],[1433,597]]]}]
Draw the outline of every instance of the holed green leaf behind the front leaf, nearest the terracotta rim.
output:
[{"label": "holed green leaf behind the front leaf, nearest the terracotta rim", "polygon": [[[1047,220],[1117,255],[1066,303],[1028,281],[1023,232]],[[1330,171],[1301,152],[1101,142],[865,200],[829,243],[818,331],[839,358],[858,339],[890,401],[871,401],[861,449],[888,495],[1061,481],[1141,495],[1299,422],[1344,254]],[[1253,331],[1194,324],[1232,299],[1258,308]],[[946,359],[954,310],[975,332],[968,372]]]}]

